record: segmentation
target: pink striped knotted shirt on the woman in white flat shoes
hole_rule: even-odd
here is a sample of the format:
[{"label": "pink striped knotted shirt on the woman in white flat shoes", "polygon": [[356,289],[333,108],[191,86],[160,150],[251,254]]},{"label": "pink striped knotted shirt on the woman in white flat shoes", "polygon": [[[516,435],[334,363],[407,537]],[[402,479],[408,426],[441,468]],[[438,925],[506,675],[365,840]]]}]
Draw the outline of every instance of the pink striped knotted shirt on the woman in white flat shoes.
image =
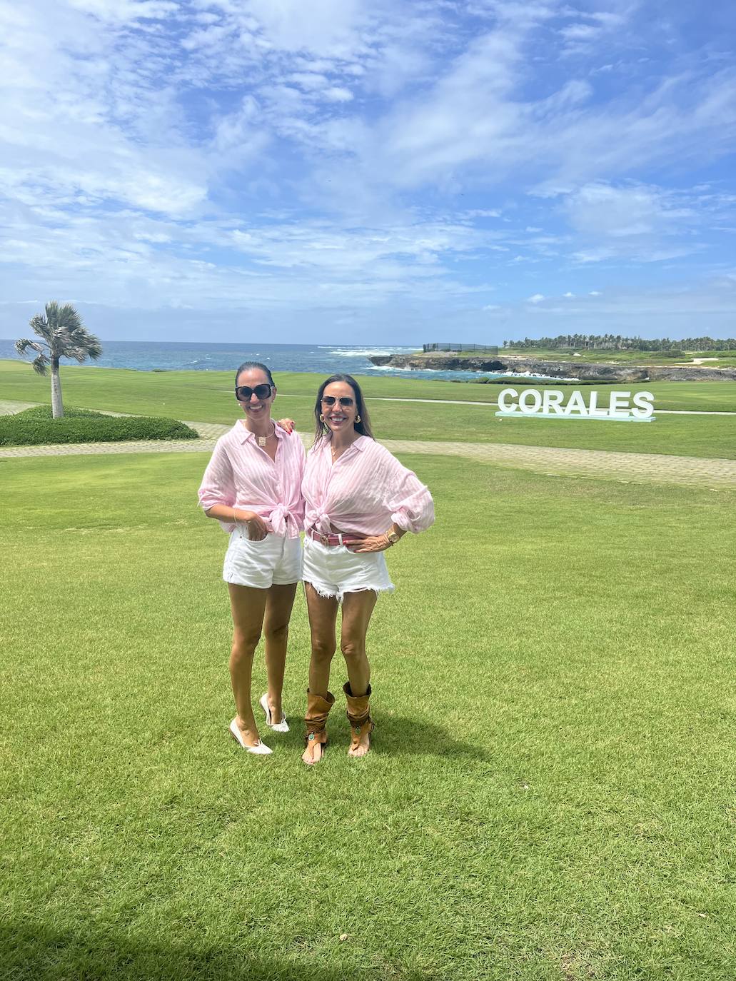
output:
[{"label": "pink striped knotted shirt on the woman in white flat shoes", "polygon": [[[238,419],[217,440],[199,488],[199,503],[205,511],[215,504],[255,511],[274,535],[295,539],[304,520],[304,447],[296,432],[289,436],[279,426],[275,432],[274,461]],[[226,521],[220,524],[226,532],[236,527]]]}]

